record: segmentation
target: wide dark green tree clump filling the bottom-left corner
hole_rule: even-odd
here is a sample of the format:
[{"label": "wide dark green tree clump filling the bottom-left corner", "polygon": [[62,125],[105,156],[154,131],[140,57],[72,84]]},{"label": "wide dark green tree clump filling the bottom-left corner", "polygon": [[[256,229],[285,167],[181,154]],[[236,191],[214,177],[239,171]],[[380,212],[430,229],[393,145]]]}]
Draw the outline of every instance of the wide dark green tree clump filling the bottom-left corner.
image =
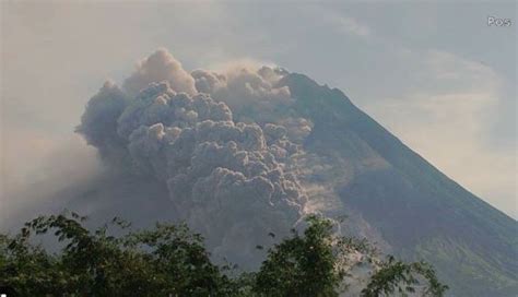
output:
[{"label": "wide dark green tree clump filling the bottom-left corner", "polygon": [[[0,280],[22,296],[227,296],[235,288],[212,264],[202,238],[185,225],[115,237],[91,233],[72,214],[40,216],[14,238],[1,237]],[[114,219],[125,229],[127,225]],[[47,253],[32,233],[54,231],[63,248]]]}]

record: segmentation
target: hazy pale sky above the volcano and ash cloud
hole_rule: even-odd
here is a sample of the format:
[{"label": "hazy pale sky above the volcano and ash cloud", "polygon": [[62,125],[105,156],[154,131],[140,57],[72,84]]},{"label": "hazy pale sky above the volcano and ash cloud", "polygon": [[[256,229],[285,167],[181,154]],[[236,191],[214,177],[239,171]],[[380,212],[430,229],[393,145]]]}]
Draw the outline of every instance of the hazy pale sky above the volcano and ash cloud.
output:
[{"label": "hazy pale sky above the volcano and ash cloud", "polygon": [[[69,147],[93,158],[73,134],[85,103],[166,47],[188,70],[248,59],[339,87],[516,218],[516,11],[515,1],[1,1],[0,202]],[[490,15],[513,25],[488,27]]]}]

